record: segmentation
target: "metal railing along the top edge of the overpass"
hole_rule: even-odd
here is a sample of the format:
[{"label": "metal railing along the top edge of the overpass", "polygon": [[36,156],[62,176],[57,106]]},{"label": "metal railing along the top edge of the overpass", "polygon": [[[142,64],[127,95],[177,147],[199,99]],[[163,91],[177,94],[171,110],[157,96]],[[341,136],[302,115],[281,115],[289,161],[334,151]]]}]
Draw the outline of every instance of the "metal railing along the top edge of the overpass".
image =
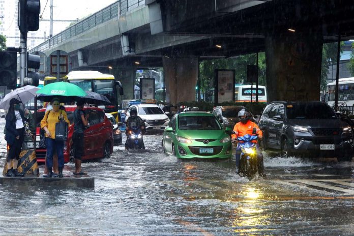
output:
[{"label": "metal railing along the top edge of the overpass", "polygon": [[44,41],[40,45],[32,48],[29,52],[35,51],[45,51],[49,48],[64,42],[74,36],[80,35],[83,32],[89,30],[90,28],[95,27],[98,24],[106,22],[114,17],[118,17],[119,9],[121,9],[121,14],[131,11],[134,8],[145,5],[145,0],[121,0],[117,1],[108,7],[103,8],[102,10],[94,13],[91,16],[88,16],[76,24],[68,27],[65,31],[53,36],[52,38]]}]

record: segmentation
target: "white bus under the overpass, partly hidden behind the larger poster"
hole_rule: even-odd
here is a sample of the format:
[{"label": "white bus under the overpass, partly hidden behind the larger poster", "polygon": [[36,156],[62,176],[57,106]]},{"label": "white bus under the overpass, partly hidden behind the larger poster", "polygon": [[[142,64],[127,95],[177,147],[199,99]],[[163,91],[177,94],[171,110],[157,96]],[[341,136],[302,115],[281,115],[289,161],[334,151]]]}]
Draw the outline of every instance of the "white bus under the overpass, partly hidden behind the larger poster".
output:
[{"label": "white bus under the overpass, partly hidden behind the larger poster", "polygon": [[[214,88],[208,90],[204,94],[206,102],[214,102]],[[235,84],[235,102],[251,102],[251,85],[250,84]],[[252,102],[256,101],[256,85],[253,85]],[[267,90],[265,86],[258,85],[258,102],[267,103]]]}]

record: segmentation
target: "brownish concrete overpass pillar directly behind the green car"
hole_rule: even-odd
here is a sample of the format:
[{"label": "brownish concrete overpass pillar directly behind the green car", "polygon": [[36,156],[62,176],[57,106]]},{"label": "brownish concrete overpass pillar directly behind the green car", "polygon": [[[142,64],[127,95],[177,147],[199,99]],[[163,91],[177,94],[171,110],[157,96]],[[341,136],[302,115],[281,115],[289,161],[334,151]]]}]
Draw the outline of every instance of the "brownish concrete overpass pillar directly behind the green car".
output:
[{"label": "brownish concrete overpass pillar directly behind the green car", "polygon": [[162,63],[166,83],[166,101],[173,105],[178,102],[195,101],[198,59],[163,57]]}]

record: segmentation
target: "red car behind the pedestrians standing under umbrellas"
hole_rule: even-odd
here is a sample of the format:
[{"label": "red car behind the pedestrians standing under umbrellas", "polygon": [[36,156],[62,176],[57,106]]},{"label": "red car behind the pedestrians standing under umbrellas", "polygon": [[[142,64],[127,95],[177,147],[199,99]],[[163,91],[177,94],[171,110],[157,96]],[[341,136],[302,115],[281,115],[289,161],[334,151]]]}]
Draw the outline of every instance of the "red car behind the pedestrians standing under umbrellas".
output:
[{"label": "red car behind the pedestrians standing under umbrellas", "polygon": [[[70,126],[68,130],[68,139],[64,144],[64,162],[68,163],[73,158],[73,150],[71,149],[71,137],[74,132],[74,111],[76,106],[65,106]],[[84,130],[84,152],[82,160],[97,159],[97,158],[110,158],[113,152],[113,130],[112,124],[106,117],[103,109],[97,107],[84,107],[83,110],[87,112],[90,110],[90,117],[88,124],[90,127]],[[45,108],[37,111],[37,149],[36,156],[37,162],[44,163],[46,156],[46,149],[39,146],[40,136],[40,123],[45,114]],[[33,147],[33,143],[27,144],[28,147]]]}]

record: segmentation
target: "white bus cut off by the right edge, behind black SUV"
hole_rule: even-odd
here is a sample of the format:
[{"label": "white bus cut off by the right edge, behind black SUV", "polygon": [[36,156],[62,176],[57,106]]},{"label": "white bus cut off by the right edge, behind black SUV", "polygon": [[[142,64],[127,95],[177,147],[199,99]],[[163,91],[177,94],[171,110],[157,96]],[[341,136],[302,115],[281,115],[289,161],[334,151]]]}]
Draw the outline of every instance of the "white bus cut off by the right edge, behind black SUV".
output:
[{"label": "white bus cut off by the right edge, behind black SUV", "polygon": [[[347,107],[352,111],[354,105],[354,77],[339,79],[338,106]],[[330,82],[326,86],[325,102],[334,107],[336,98],[336,82]]]}]

